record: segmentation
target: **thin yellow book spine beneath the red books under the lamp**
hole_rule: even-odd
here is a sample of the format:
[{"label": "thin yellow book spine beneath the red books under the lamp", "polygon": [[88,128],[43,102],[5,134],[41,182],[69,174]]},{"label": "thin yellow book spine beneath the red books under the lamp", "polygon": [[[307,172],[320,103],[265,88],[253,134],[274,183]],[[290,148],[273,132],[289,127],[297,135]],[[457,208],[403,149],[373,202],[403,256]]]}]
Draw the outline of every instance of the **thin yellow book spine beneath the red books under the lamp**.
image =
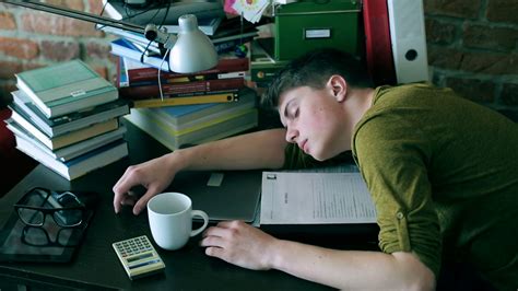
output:
[{"label": "thin yellow book spine beneath the red books under the lamp", "polygon": [[137,100],[132,102],[133,108],[154,108],[176,105],[193,105],[205,103],[226,103],[237,101],[237,94],[224,93],[213,95],[200,96],[185,96],[185,97],[169,97],[169,98],[153,98],[153,100]]}]

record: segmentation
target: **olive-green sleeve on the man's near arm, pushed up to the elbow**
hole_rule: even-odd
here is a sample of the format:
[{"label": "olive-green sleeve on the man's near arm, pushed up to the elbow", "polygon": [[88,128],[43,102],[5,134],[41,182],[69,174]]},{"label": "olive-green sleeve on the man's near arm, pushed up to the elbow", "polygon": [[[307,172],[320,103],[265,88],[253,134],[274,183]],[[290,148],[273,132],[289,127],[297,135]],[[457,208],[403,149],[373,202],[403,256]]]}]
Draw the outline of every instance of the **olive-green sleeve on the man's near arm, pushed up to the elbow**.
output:
[{"label": "olive-green sleeve on the man's near arm, pushed up to the elbow", "polygon": [[411,252],[436,276],[442,258],[438,218],[427,176],[425,135],[398,116],[364,123],[353,152],[376,206],[382,252]]}]

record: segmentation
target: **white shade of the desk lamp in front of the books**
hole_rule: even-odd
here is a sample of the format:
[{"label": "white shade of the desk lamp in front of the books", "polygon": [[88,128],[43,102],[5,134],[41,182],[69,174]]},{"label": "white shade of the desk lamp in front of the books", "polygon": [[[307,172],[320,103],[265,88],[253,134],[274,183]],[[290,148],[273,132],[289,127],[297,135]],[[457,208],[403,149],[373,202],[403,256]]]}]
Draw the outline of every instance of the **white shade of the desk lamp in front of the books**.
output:
[{"label": "white shade of the desk lamp in front of the books", "polygon": [[169,53],[169,67],[179,73],[208,70],[217,65],[217,54],[209,37],[198,28],[192,14],[178,19],[178,39]]}]

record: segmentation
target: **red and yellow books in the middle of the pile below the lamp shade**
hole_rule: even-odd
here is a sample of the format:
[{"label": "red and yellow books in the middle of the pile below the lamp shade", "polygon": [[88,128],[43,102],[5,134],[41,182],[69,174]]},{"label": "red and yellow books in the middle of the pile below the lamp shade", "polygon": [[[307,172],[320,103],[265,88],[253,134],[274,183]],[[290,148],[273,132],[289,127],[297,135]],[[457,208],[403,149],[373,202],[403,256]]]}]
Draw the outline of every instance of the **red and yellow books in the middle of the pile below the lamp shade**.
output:
[{"label": "red and yellow books in the middle of the pile below the lamp shade", "polygon": [[128,57],[118,62],[119,94],[136,108],[236,102],[249,68],[248,58],[220,59],[216,67],[197,73],[161,72],[158,83],[158,69]]}]

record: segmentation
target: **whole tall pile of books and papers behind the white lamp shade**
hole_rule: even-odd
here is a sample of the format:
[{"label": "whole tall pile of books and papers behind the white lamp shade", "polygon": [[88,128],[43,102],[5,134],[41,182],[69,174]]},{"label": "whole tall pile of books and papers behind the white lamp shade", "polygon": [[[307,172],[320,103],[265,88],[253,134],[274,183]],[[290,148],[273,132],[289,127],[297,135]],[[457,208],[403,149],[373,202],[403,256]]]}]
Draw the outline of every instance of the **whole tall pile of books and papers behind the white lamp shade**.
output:
[{"label": "whole tall pile of books and papers behind the white lamp shade", "polygon": [[152,10],[164,12],[154,4],[138,11],[139,8],[116,1],[104,3],[109,18],[139,25],[162,23],[173,34],[178,31],[179,15],[195,14],[200,30],[212,40],[220,57],[212,69],[176,73],[169,70],[163,45],[138,33],[97,25],[98,30],[120,37],[110,43],[110,53],[118,56],[119,96],[131,104],[131,114],[125,116],[129,121],[172,150],[257,126],[257,95],[246,88],[250,60],[243,47],[259,34],[259,24],[243,22],[239,18],[226,19],[220,2],[219,10],[215,2],[175,3],[173,14],[157,16],[164,22],[157,22],[150,13]]}]

